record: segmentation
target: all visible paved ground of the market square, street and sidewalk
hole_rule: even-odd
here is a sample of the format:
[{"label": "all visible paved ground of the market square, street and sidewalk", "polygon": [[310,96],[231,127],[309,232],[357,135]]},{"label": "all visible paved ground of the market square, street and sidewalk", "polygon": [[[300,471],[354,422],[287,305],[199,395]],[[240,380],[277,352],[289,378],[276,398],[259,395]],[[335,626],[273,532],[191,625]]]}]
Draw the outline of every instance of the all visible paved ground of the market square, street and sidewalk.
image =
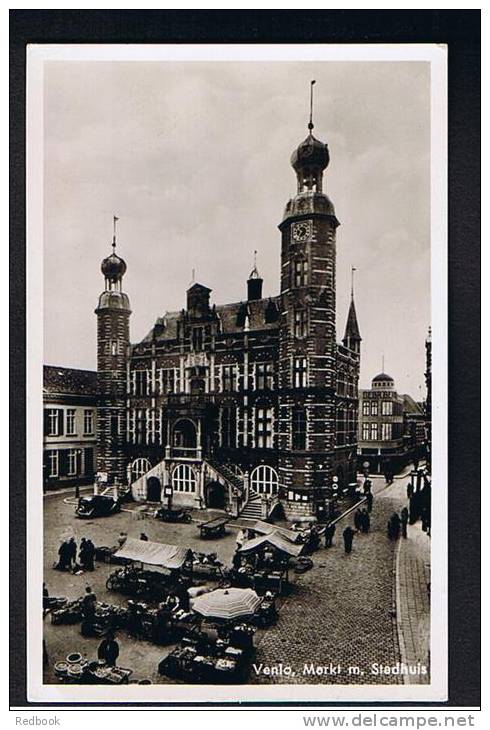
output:
[{"label": "all visible paved ground of the market square, street and sidewalk", "polygon": [[[384,489],[384,481],[374,480],[374,506],[371,515],[371,531],[368,535],[356,534],[353,550],[346,555],[342,546],[342,531],[347,523],[352,524],[352,515],[337,525],[334,546],[322,548],[313,556],[314,567],[303,575],[294,576],[289,594],[280,604],[280,617],[276,626],[259,631],[256,635],[257,654],[255,665],[262,664],[274,674],[257,673],[253,668],[251,683],[315,683],[315,684],[395,684],[403,681],[399,676],[372,674],[371,665],[394,666],[404,659],[400,654],[397,621],[395,618],[395,548],[386,537],[386,523],[394,510],[400,510],[404,502],[406,480],[397,480]],[[127,598],[110,593],[105,588],[108,575],[116,566],[96,563],[93,573],[80,576],[60,573],[52,569],[56,559],[61,534],[73,529],[77,541],[82,536],[90,537],[96,545],[114,545],[121,530],[130,537],[139,537],[145,532],[150,540],[170,544],[188,545],[203,552],[215,551],[219,558],[229,563],[235,550],[236,532],[219,540],[201,540],[196,522],[189,525],[172,525],[153,519],[137,520],[135,513],[122,512],[109,518],[81,521],[74,517],[74,504],[66,504],[67,495],[49,496],[44,500],[45,513],[45,572],[44,580],[51,595],[66,595],[77,598],[83,594],[86,585],[95,591],[98,600],[125,605]],[[196,513],[198,521],[202,513]],[[418,528],[411,528],[416,530]],[[425,533],[422,536],[426,538]],[[412,566],[410,539],[400,544],[400,566],[405,578],[400,581],[399,592],[407,598],[406,609],[412,615],[412,604],[408,594],[414,586],[426,580]],[[418,553],[417,553],[418,554]],[[425,565],[425,563],[424,563]],[[425,569],[424,569],[425,570]],[[410,588],[412,586],[412,588]],[[410,599],[412,600],[412,599]],[[422,604],[420,604],[422,605]],[[428,606],[428,603],[427,603]],[[422,609],[421,609],[422,610]],[[423,609],[427,617],[428,609]],[[417,615],[413,613],[413,616]],[[399,616],[399,618],[400,618]],[[424,619],[425,620],[425,619]],[[414,637],[413,656],[421,656],[424,646],[422,638],[415,642],[417,624],[412,621]],[[418,624],[421,625],[420,623]],[[427,623],[428,626],[428,623]],[[52,666],[66,657],[70,651],[80,651],[85,658],[95,657],[99,639],[82,638],[80,626],[52,626],[49,617],[45,620],[44,633],[49,655],[49,667],[45,682],[56,681]],[[409,648],[403,641],[407,623],[400,625],[402,649]],[[409,634],[407,634],[409,636]],[[120,643],[120,666],[136,671],[133,679],[150,679],[154,683],[172,683],[172,680],[157,673],[160,660],[174,647],[159,647],[142,640],[130,640],[124,633],[118,635]],[[418,647],[418,648],[417,648]],[[407,655],[408,656],[408,655]],[[411,655],[412,656],[412,655]],[[408,657],[411,659],[411,656]],[[303,674],[312,665],[326,667],[331,671],[340,665],[339,673]],[[290,666],[295,676],[279,674]],[[349,667],[353,669],[350,670]],[[359,674],[355,673],[359,672]],[[361,674],[364,672],[364,674]]]}]

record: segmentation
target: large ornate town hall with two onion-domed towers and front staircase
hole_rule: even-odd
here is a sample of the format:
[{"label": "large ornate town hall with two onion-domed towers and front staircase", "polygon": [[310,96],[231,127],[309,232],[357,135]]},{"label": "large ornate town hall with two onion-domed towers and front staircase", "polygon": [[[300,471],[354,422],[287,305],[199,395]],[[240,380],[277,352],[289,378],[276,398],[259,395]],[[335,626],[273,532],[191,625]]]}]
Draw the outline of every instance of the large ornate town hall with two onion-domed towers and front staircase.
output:
[{"label": "large ornate town hall with two onion-domed towers and front staircase", "polygon": [[276,296],[262,296],[256,264],[242,301],[217,305],[195,282],[185,309],[130,344],[115,236],[102,262],[97,468],[136,500],[291,517],[355,482],[361,336],[352,292],[337,342],[339,221],[323,190],[328,146],[308,127],[291,158]]}]

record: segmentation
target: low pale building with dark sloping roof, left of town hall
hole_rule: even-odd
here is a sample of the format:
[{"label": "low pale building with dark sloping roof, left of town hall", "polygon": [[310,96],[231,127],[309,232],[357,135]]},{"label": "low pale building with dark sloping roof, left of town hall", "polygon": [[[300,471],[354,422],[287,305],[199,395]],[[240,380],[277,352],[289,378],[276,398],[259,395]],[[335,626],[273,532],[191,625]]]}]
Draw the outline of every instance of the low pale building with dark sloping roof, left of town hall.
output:
[{"label": "low pale building with dark sloping roof, left of town hall", "polygon": [[94,481],[97,373],[44,366],[43,488]]}]

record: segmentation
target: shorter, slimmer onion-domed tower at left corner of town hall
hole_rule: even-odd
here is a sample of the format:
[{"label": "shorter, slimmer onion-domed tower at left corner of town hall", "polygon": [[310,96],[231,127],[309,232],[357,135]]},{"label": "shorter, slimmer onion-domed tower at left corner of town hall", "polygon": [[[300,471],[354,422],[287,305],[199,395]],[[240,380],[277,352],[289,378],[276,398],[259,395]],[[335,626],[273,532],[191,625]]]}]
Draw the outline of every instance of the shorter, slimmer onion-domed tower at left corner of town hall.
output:
[{"label": "shorter, slimmer onion-domed tower at left corner of town hall", "polygon": [[97,315],[97,470],[108,484],[126,481],[126,363],[129,350],[128,295],[122,290],[126,262],[116,254],[116,222],[112,253],[101,264],[105,288]]}]

